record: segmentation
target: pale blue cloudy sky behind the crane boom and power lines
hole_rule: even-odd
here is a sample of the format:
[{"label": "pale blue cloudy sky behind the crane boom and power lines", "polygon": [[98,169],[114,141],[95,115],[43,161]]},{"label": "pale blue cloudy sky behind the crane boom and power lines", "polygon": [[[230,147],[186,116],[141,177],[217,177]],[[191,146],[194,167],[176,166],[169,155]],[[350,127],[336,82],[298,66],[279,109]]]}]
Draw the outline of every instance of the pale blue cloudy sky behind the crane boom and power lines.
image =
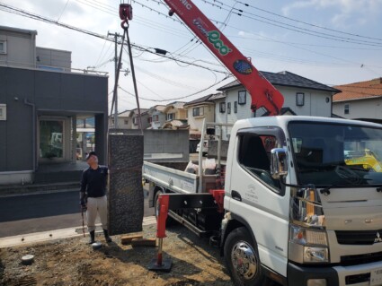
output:
[{"label": "pale blue cloudy sky behind the crane boom and power lines", "polygon": [[[233,80],[231,77],[221,82],[227,72],[224,66],[203,45],[195,44],[191,32],[175,17],[166,18],[168,8],[160,2],[131,1],[134,9],[129,25],[131,42],[148,51],[163,48],[169,56],[210,70],[133,50],[143,108],[159,103],[150,100],[165,100],[166,104],[201,91],[184,99],[194,100]],[[382,76],[382,0],[206,2],[195,0],[194,4],[209,19],[217,21],[218,28],[261,71],[286,70],[328,85]],[[105,36],[108,31],[122,33],[119,0],[0,0],[0,3]],[[239,10],[243,10],[242,16],[236,14]],[[98,70],[109,72],[112,91],[111,42],[4,11],[0,11],[0,25],[38,30],[37,45],[72,51],[72,67],[84,69],[96,65]],[[129,68],[127,53],[122,58],[123,69]],[[124,74],[120,74],[120,86],[133,93],[131,73]],[[125,91],[119,91],[120,111],[136,108],[135,99]]]}]

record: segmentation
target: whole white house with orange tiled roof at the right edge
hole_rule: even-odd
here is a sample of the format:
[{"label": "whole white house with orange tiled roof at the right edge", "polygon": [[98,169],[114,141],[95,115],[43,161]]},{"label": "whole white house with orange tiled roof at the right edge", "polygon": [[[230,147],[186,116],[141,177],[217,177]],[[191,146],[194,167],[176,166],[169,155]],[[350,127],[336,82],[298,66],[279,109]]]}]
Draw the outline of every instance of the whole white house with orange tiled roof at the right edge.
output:
[{"label": "whole white house with orange tiled roof at the right edge", "polygon": [[382,78],[335,86],[333,114],[348,119],[382,123]]}]

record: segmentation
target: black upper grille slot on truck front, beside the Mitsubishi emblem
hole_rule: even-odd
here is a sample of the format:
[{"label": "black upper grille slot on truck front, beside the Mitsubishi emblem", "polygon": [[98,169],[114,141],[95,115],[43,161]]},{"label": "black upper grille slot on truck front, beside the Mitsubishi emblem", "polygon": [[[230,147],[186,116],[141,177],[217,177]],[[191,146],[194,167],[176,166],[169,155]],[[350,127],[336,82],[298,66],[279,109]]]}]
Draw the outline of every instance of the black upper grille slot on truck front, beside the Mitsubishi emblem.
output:
[{"label": "black upper grille slot on truck front, beside the Mitsubishi emblem", "polygon": [[[382,243],[382,230],[336,230],[335,235],[339,244],[372,245],[376,241]],[[379,242],[381,241],[381,242]]]}]

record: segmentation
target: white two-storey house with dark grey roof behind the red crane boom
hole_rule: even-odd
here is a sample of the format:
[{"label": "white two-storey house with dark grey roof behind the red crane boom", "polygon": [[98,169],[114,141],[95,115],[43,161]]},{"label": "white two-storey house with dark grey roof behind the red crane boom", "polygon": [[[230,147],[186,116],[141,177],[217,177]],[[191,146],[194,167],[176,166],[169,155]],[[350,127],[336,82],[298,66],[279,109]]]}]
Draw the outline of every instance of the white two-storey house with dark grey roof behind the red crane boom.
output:
[{"label": "white two-storey house with dark grey roof behind the red crane boom", "polygon": [[[293,114],[315,117],[332,117],[332,97],[340,92],[319,82],[306,79],[290,72],[261,72],[284,96],[281,114]],[[234,124],[236,120],[266,116],[267,112],[251,110],[251,95],[238,82],[230,82],[218,89],[226,94],[226,101],[218,99],[216,109],[217,122]],[[221,121],[220,121],[221,120]],[[223,128],[223,139],[229,138],[230,128]]]}]

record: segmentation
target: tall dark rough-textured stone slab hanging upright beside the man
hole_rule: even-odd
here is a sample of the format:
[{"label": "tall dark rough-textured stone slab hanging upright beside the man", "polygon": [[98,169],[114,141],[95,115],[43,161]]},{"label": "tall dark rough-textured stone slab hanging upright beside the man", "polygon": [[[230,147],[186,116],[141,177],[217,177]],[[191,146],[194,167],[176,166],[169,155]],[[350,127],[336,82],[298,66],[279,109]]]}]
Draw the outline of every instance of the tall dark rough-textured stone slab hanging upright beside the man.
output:
[{"label": "tall dark rough-textured stone slab hanging upright beside the man", "polygon": [[109,231],[142,231],[143,135],[109,135]]}]

